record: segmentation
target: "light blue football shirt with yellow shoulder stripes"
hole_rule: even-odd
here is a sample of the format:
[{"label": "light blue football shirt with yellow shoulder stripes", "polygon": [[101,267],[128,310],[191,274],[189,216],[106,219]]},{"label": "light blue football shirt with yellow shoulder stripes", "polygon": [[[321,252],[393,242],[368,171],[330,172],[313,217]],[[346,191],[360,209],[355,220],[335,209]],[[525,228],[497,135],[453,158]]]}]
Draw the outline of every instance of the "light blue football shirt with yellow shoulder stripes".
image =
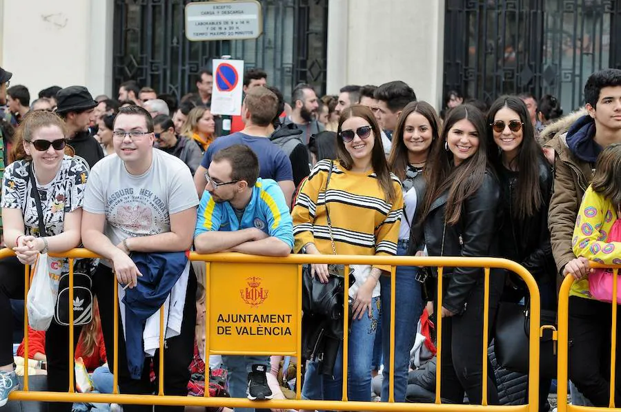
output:
[{"label": "light blue football shirt with yellow shoulder stripes", "polygon": [[256,227],[293,248],[293,220],[278,183],[257,179],[241,223],[229,202],[217,203],[208,190],[203,193],[194,237],[206,231],[236,231],[249,227]]}]

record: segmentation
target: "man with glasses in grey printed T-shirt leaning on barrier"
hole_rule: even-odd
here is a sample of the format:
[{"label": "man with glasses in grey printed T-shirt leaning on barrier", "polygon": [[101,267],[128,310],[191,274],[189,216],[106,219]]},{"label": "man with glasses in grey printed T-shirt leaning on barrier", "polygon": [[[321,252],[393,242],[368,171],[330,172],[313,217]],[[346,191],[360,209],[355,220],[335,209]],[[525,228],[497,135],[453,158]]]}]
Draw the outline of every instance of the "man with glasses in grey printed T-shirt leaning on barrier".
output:
[{"label": "man with glasses in grey printed T-shirt leaning on barrier", "polygon": [[[115,276],[119,282],[119,300],[121,292],[127,293],[125,296],[132,296],[134,305],[138,299],[142,305],[141,311],[152,302],[153,295],[161,293],[162,283],[166,282],[166,287],[172,289],[168,295],[170,305],[165,310],[165,313],[168,311],[168,321],[164,391],[167,395],[185,396],[190,379],[188,365],[194,347],[197,280],[193,273],[188,275],[187,269],[182,274],[175,271],[175,276],[172,276],[168,273],[168,266],[175,264],[171,259],[179,259],[179,253],[175,252],[187,251],[192,245],[199,199],[188,167],[175,156],[152,147],[155,140],[153,119],[144,108],[137,105],[122,107],[115,118],[112,140],[117,156],[103,158],[90,172],[84,195],[81,233],[84,247],[103,257],[93,278],[93,290],[99,300],[106,352],[112,354],[114,344],[115,296],[112,277]],[[166,265],[158,266],[161,265],[161,258],[157,256],[162,255],[166,255]],[[148,265],[141,265],[139,270],[135,259],[144,256],[150,256]],[[187,263],[184,262],[184,265]],[[159,283],[156,285],[146,285],[146,280],[153,276],[154,268],[167,273],[157,280]],[[157,289],[149,293],[148,287]],[[124,291],[123,288],[129,290]],[[165,293],[168,293],[168,289]],[[124,302],[129,305],[129,300]],[[154,311],[159,308],[159,305],[150,305],[155,307],[152,309]],[[137,310],[135,306],[130,308],[132,313]],[[119,325],[126,324],[130,310],[126,307],[125,311],[120,309],[119,313],[123,320]],[[155,333],[158,338],[155,347],[148,347],[154,336],[148,336],[150,323],[147,320],[142,335],[144,351],[140,347],[137,353],[138,356],[144,356],[145,352],[152,349],[150,355],[154,356],[156,364],[159,316],[157,318]],[[175,333],[171,334],[173,330]],[[119,388],[121,393],[152,393],[150,359],[137,362],[130,356],[131,342],[136,342],[135,333],[135,329],[128,327],[125,333],[119,331]],[[152,406],[130,408],[132,411],[146,412],[151,411]],[[164,409],[183,411],[183,406],[161,408]]]}]

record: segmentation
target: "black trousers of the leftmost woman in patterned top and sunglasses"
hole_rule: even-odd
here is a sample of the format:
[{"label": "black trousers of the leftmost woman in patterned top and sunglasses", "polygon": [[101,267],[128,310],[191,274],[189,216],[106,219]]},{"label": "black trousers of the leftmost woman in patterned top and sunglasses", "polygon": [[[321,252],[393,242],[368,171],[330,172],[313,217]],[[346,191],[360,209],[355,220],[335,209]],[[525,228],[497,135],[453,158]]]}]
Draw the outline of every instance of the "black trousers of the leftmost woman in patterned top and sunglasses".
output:
[{"label": "black trousers of the leftmost woman in patterned top and sunglasses", "polygon": [[[26,285],[23,279],[24,267],[17,258],[0,260],[0,313],[11,313],[10,299],[23,300]],[[73,329],[73,349],[80,337],[81,327]],[[0,333],[0,365],[13,363],[12,333]],[[48,391],[67,392],[69,390],[69,328],[57,325],[52,320],[46,331],[46,357],[48,359]],[[50,412],[71,411],[71,403],[50,402]]]}]

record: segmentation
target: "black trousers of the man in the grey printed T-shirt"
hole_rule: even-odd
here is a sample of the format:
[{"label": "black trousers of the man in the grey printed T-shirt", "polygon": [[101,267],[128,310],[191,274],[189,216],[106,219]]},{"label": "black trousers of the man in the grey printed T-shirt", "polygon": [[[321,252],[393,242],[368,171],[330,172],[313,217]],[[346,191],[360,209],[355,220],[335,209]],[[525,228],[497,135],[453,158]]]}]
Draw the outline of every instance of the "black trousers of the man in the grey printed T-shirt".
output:
[{"label": "black trousers of the man in the grey printed T-shirt", "polygon": [[[194,356],[194,338],[196,325],[196,287],[197,280],[190,267],[188,278],[188,291],[184,306],[184,320],[181,322],[181,334],[166,340],[164,351],[164,393],[166,395],[188,395],[188,381],[190,380],[190,362]],[[101,328],[103,340],[106,342],[106,356],[110,371],[114,372],[114,298],[115,289],[112,270],[99,265],[93,280],[93,289],[99,302],[99,315],[101,316]],[[159,349],[155,351],[153,358],[146,358],[141,379],[130,378],[127,367],[127,355],[123,333],[121,314],[119,313],[119,391],[120,393],[151,394],[157,391],[159,373]],[[156,379],[155,386],[149,380],[150,365],[153,360],[153,370]],[[125,412],[150,412],[150,405],[124,405]],[[183,411],[184,406],[155,406],[156,412]]]}]

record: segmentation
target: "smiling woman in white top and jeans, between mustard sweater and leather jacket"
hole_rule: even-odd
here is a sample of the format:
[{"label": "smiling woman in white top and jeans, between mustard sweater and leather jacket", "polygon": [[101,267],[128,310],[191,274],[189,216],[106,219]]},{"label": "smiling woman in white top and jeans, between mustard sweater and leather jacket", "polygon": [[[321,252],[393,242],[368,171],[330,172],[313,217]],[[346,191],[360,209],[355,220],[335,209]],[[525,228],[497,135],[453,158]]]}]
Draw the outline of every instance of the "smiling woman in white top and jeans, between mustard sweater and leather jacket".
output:
[{"label": "smiling woman in white top and jeans, between mustard sweater and leather jacket", "polygon": [[[425,193],[424,171],[431,150],[431,143],[440,138],[440,119],[433,106],[424,101],[408,103],[397,120],[393,146],[388,157],[392,172],[400,178],[403,187],[404,208],[401,216],[397,255],[413,255],[424,247],[420,225],[422,198]],[[419,212],[419,213],[417,213]],[[418,233],[417,233],[417,230]],[[405,402],[408,385],[410,350],[416,338],[416,325],[422,314],[420,268],[397,266],[395,296],[395,401]],[[390,323],[391,279],[380,278],[382,296],[382,349],[384,353],[384,378],[382,402],[388,401],[391,368]]]}]

